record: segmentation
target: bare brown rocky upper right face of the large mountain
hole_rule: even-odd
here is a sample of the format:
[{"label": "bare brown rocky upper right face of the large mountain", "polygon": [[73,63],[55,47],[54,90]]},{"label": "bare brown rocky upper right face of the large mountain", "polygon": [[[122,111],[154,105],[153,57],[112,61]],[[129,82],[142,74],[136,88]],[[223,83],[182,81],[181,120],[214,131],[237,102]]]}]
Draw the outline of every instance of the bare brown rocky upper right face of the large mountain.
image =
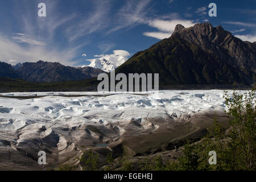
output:
[{"label": "bare brown rocky upper right face of the large mountain", "polygon": [[213,51],[212,55],[219,55],[230,65],[240,68],[247,76],[255,77],[256,46],[254,43],[242,42],[221,26],[213,27],[210,23],[199,23],[191,28],[183,28],[176,34],[205,51]]}]

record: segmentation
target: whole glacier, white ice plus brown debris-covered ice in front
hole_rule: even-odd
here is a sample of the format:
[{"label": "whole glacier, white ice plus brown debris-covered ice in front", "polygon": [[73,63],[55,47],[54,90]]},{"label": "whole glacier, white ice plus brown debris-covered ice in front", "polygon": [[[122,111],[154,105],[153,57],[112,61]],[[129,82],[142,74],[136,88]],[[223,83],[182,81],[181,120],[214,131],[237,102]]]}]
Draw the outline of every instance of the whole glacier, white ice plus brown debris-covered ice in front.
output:
[{"label": "whole glacier, white ice plus brown debris-covered ice in front", "polygon": [[[224,113],[223,96],[223,90],[0,93],[0,169],[42,169],[36,161],[42,150],[48,165],[56,167],[67,159],[77,162],[82,146],[120,141],[130,142],[138,154],[145,143],[151,148],[162,143],[157,140],[160,135],[168,142],[186,134],[184,121],[191,118],[198,118],[191,120],[191,133],[208,127],[205,123],[212,118],[204,113]],[[131,138],[141,136],[147,137],[135,143]]]}]

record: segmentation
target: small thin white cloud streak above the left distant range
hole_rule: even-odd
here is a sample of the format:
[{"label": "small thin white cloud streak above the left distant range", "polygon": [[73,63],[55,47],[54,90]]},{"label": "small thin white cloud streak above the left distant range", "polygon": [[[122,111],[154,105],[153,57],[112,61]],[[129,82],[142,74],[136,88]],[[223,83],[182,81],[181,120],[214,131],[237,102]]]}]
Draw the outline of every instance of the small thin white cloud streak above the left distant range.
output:
[{"label": "small thin white cloud streak above the left distant range", "polygon": [[20,34],[20,33],[16,33],[14,35],[15,36],[13,36],[12,38],[15,42],[38,45],[38,46],[46,46],[46,43],[36,40],[33,36]]}]

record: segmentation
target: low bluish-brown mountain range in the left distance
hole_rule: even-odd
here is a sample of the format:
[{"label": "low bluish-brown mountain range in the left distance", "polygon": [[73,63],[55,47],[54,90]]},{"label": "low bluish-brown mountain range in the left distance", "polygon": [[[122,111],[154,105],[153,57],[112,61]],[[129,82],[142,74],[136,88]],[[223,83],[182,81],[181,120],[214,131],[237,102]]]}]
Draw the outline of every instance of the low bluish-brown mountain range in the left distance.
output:
[{"label": "low bluish-brown mountain range in the left distance", "polygon": [[101,69],[90,67],[73,68],[60,63],[38,61],[37,63],[23,63],[11,66],[0,62],[0,77],[21,78],[30,82],[59,82],[85,80],[105,73]]}]

